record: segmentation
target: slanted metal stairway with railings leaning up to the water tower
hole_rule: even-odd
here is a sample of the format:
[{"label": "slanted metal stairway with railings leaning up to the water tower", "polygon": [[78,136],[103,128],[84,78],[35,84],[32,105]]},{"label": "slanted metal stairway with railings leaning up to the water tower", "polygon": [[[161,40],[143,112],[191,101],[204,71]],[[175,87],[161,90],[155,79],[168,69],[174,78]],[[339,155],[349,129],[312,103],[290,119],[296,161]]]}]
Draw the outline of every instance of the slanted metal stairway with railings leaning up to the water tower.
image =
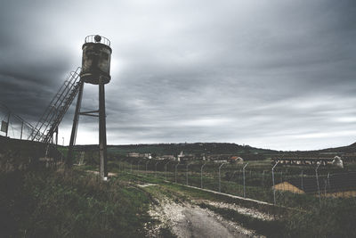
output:
[{"label": "slanted metal stairway with railings leaning up to the water tower", "polygon": [[78,67],[77,70],[69,73],[60,90],[54,95],[53,100],[38,120],[36,127],[28,136],[29,140],[45,144],[51,143],[54,132],[57,131],[61,119],[68,111],[81,85],[80,70],[81,68]]}]

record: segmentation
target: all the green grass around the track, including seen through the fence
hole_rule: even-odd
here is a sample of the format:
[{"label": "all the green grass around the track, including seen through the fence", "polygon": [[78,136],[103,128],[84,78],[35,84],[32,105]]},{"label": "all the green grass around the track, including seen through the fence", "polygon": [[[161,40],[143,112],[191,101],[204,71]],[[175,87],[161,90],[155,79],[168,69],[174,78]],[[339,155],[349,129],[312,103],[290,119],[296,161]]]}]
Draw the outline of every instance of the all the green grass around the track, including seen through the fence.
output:
[{"label": "all the green grass around the track, including seen through the fence", "polygon": [[[149,216],[150,206],[161,197],[177,202],[189,202],[253,229],[267,237],[355,237],[355,199],[324,198],[279,193],[278,205],[263,205],[254,201],[209,193],[185,185],[174,184],[174,164],[165,171],[166,161],[148,164],[145,161],[109,160],[109,171],[116,173],[103,183],[93,172],[98,171],[97,155],[85,155],[85,166],[72,169],[44,168],[36,160],[23,167],[23,161],[38,156],[31,144],[11,144],[2,147],[0,163],[0,236],[1,237],[145,237],[158,224]],[[66,149],[62,148],[62,152]],[[80,156],[80,153],[77,153]],[[5,163],[4,163],[5,161]],[[14,166],[9,166],[14,163]],[[32,163],[32,164],[31,164]],[[138,166],[139,165],[139,166]],[[272,201],[271,183],[256,186],[255,175],[271,168],[269,160],[250,162],[254,168],[247,172],[247,197]],[[137,169],[139,168],[139,170]],[[177,181],[186,183],[185,165],[178,169]],[[189,171],[189,185],[200,185],[200,165]],[[241,165],[226,165],[222,170],[221,190],[241,196],[241,177],[231,180],[232,171]],[[298,175],[298,168],[287,168]],[[247,170],[248,171],[248,170]],[[277,170],[280,172],[280,170]],[[283,170],[285,173],[286,171]],[[267,172],[266,172],[267,173]],[[217,190],[216,165],[205,168],[204,187]],[[279,175],[279,174],[278,174]],[[269,176],[267,176],[269,177]],[[268,178],[269,179],[269,178]],[[279,176],[276,179],[280,179]],[[167,182],[170,180],[171,182]],[[140,187],[142,184],[155,184]],[[260,183],[260,182],[258,182]],[[257,184],[258,184],[257,183]],[[259,185],[259,184],[258,184]],[[216,208],[206,201],[237,204],[272,214],[276,219],[261,220],[233,209]],[[293,209],[288,209],[293,208]],[[168,227],[161,227],[157,235],[174,237]]]}]

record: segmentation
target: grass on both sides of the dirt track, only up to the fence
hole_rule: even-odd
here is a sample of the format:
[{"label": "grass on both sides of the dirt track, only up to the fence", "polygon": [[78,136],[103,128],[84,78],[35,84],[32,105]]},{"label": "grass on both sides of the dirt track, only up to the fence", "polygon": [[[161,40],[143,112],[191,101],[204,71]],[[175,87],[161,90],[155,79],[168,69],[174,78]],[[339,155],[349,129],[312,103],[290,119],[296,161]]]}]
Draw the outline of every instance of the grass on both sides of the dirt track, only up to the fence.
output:
[{"label": "grass on both sides of the dirt track, only up to the fence", "polygon": [[[165,182],[163,173],[130,172],[112,168],[117,175],[109,183],[83,166],[64,172],[38,170],[11,172],[0,176],[0,230],[5,237],[144,237],[143,227],[157,221],[147,211],[153,198],[179,201],[219,201],[239,204],[276,214],[274,221],[257,220],[231,209],[211,209],[226,219],[238,222],[268,237],[354,237],[354,200],[330,200],[309,209],[288,210],[256,205],[183,185]],[[144,189],[140,184],[157,184]],[[169,229],[160,234],[173,236]]]}]

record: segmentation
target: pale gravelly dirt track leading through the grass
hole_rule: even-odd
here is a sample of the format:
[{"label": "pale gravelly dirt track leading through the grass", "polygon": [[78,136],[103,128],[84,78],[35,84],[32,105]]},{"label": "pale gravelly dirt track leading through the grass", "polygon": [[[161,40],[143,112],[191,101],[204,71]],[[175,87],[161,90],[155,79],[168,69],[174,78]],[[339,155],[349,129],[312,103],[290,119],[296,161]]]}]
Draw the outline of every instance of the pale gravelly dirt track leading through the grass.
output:
[{"label": "pale gravelly dirt track leading through the grass", "polygon": [[[206,203],[214,207],[243,211],[243,213],[252,217],[264,216],[254,209],[244,209],[235,204],[223,202],[190,201],[182,193],[177,193],[157,184],[132,184],[128,186],[142,191],[150,199],[149,214],[157,222],[146,224],[144,227],[148,237],[162,237],[162,234],[160,234],[162,228],[170,230],[177,237],[261,237],[254,231],[223,218],[211,209],[202,208],[198,204]],[[157,186],[159,193],[152,193],[150,188]],[[269,219],[269,217],[263,218]]]}]

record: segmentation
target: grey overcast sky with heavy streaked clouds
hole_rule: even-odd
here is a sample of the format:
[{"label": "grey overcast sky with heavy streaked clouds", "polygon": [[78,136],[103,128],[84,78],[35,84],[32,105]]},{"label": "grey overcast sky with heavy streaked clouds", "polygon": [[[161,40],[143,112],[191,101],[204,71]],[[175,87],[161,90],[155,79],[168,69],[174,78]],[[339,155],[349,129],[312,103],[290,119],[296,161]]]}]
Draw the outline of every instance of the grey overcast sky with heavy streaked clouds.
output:
[{"label": "grey overcast sky with heavy streaked clouds", "polygon": [[[34,124],[100,34],[113,50],[108,144],[356,141],[354,0],[2,0],[0,30],[0,102]],[[85,109],[97,91],[85,85]],[[98,144],[96,119],[81,118],[77,144]]]}]

